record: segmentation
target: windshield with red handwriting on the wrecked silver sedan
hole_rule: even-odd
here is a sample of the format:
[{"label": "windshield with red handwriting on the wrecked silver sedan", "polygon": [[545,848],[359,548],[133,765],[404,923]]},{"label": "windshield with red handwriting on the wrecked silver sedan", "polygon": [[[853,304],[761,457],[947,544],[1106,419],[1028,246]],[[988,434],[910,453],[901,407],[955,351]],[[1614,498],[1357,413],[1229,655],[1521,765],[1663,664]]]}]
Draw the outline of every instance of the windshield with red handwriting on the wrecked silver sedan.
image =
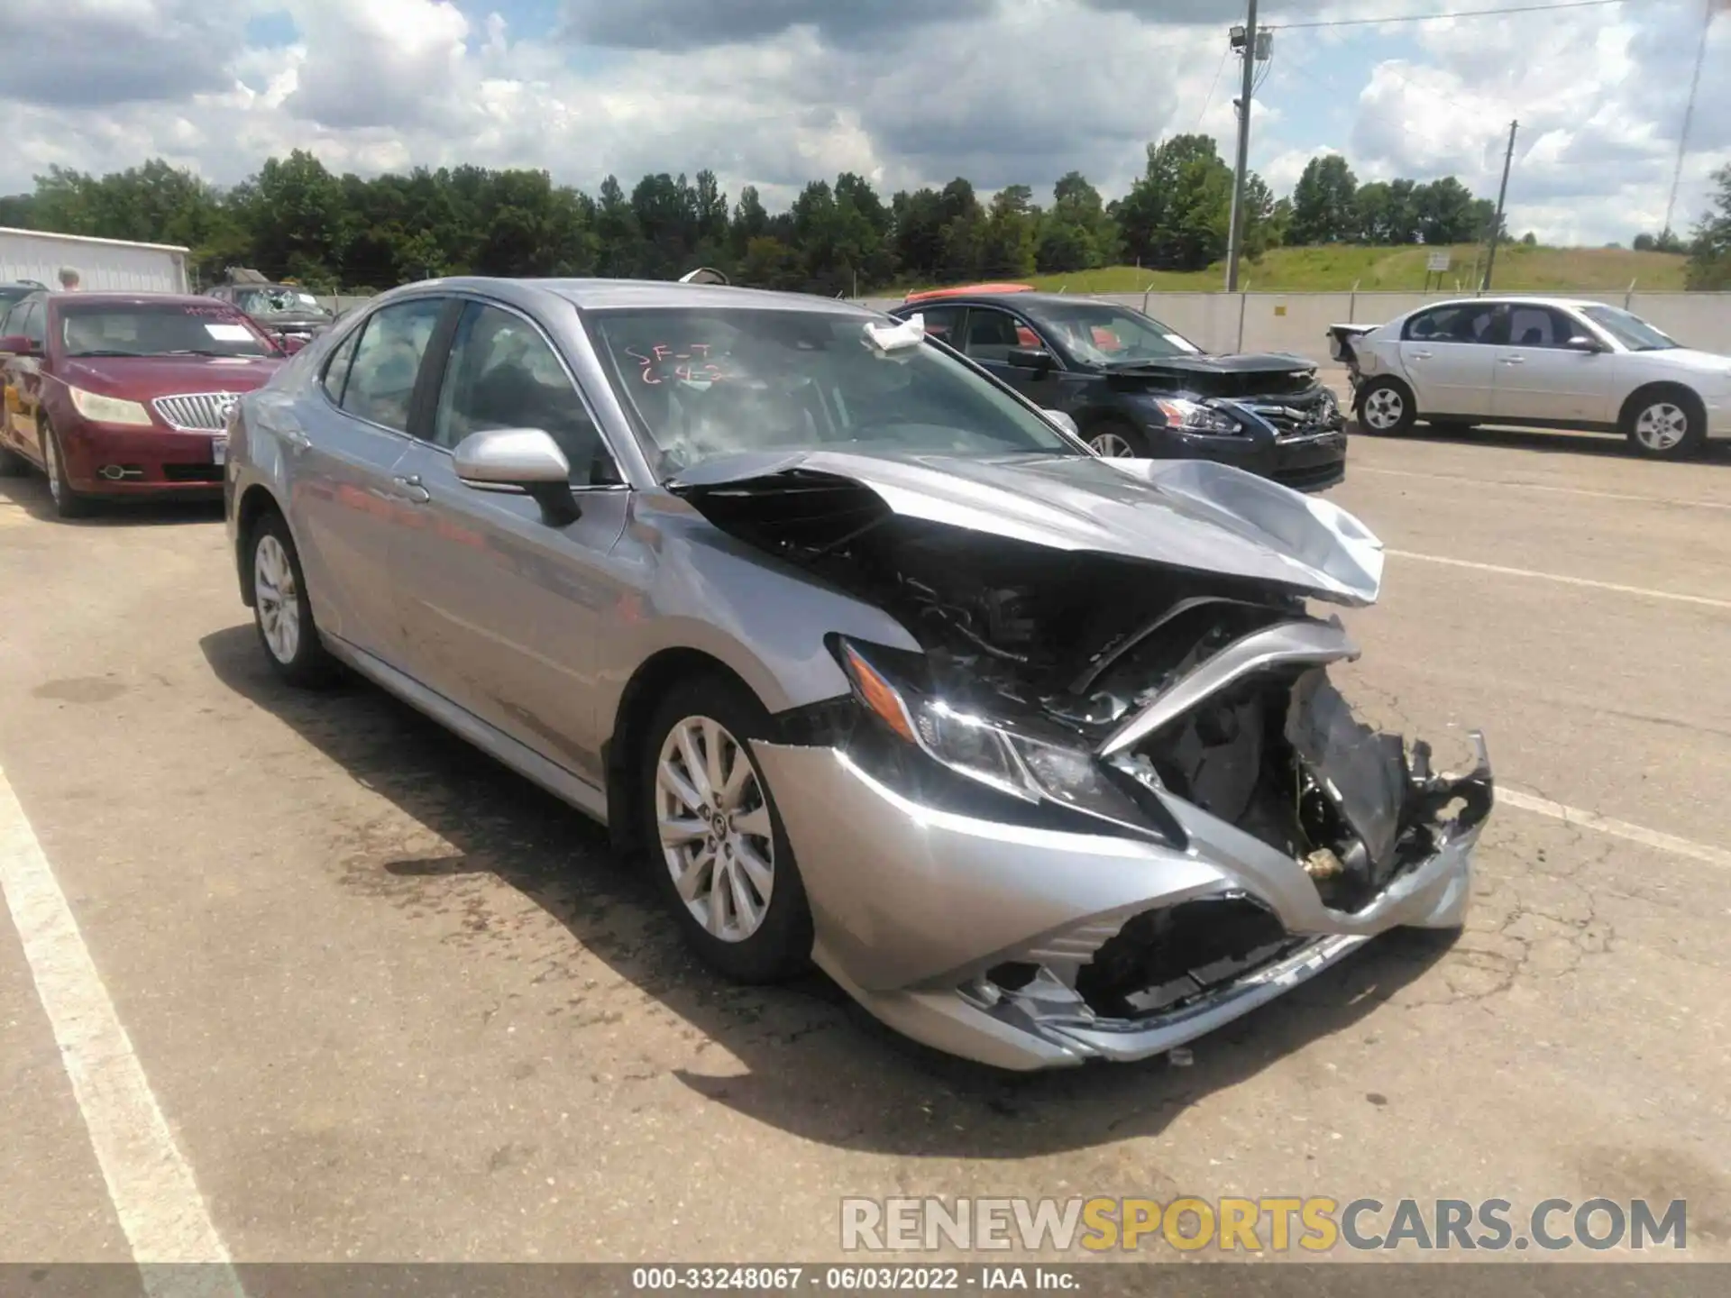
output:
[{"label": "windshield with red handwriting on the wrecked silver sedan", "polygon": [[595,312],[595,346],[660,478],[753,450],[1082,455],[931,343],[881,351],[829,312]]}]

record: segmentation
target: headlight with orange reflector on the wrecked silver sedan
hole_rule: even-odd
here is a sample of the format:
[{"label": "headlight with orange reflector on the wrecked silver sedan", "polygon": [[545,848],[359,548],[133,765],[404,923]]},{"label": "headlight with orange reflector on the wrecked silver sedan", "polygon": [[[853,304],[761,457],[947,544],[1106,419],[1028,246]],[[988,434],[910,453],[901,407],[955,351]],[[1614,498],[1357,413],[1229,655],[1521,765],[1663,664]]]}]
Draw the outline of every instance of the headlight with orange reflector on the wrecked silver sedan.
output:
[{"label": "headlight with orange reflector on the wrecked silver sedan", "polygon": [[999,722],[952,708],[872,666],[859,646],[838,639],[836,656],[859,701],[893,736],[933,761],[1026,803],[1056,803],[1073,812],[1151,831],[1149,817],[1106,763],[1084,748],[1020,734]]}]

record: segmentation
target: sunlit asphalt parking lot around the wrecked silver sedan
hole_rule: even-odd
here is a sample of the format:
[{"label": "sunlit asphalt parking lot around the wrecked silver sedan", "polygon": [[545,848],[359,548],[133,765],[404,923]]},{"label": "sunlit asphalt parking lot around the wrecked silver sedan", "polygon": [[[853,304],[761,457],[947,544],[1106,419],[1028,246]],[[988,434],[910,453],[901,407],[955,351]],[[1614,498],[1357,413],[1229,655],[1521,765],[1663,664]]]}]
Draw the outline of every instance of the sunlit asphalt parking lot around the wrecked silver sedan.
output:
[{"label": "sunlit asphalt parking lot around the wrecked silver sedan", "polygon": [[0,922],[0,1260],[834,1258],[886,1194],[1681,1198],[1731,1258],[1731,455],[1355,438],[1331,498],[1390,549],[1345,684],[1440,758],[1489,737],[1466,933],[1189,1066],[1004,1076],[711,981],[580,815],[277,685],[216,511],[0,479],[0,853],[40,845],[180,1156],[62,1064],[78,950]]}]

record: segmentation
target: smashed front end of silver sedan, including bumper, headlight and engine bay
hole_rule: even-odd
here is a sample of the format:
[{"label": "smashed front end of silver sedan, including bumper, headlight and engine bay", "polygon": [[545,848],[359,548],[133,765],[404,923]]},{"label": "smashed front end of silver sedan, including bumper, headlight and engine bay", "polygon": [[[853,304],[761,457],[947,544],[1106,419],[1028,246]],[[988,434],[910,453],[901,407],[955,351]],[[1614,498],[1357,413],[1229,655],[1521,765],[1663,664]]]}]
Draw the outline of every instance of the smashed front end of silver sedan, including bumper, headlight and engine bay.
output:
[{"label": "smashed front end of silver sedan, including bumper, headlight and engine bay", "polygon": [[[1307,609],[1374,599],[1324,537],[1367,571],[1355,521],[1234,505],[1232,476],[1189,509],[1181,471],[1156,467],[1146,511],[1172,552],[1219,542],[1207,571],[1058,543],[1073,533],[1052,493],[1030,537],[1007,505],[961,526],[893,471],[857,474],[777,467],[687,498],[923,647],[831,637],[852,697],[756,746],[814,954],[879,1018],[1007,1068],[1137,1059],[1388,928],[1461,924],[1483,742],[1438,775],[1425,742],[1361,723],[1328,678],[1359,649]],[[1265,559],[1220,540],[1258,528]]]}]

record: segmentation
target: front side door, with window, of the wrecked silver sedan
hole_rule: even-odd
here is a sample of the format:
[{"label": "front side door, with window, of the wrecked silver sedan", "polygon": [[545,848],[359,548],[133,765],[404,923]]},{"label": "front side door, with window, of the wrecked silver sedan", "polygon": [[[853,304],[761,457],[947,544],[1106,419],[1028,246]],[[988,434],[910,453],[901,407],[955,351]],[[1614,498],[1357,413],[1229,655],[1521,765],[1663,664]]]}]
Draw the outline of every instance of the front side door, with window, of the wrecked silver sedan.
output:
[{"label": "front side door, with window, of the wrecked silver sedan", "polygon": [[[601,784],[597,640],[632,588],[611,561],[630,493],[569,369],[523,312],[467,301],[433,374],[426,427],[396,467],[422,497],[393,556],[407,670]],[[549,524],[526,495],[457,479],[455,447],[497,427],[538,427],[559,443],[576,521]]]}]

